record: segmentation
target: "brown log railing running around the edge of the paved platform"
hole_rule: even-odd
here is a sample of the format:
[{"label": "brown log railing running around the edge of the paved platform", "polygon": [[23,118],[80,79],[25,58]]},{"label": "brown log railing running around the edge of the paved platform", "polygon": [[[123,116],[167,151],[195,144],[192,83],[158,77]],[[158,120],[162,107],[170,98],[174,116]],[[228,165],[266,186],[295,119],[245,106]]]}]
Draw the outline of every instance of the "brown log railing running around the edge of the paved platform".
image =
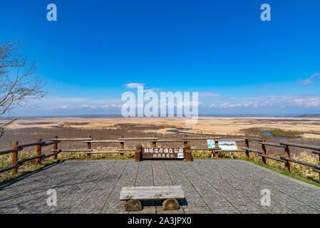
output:
[{"label": "brown log railing running around the edge of the paved platform", "polygon": [[[190,147],[189,142],[192,140],[215,140],[215,147]],[[66,142],[66,141],[78,141],[78,142],[84,142],[87,144],[86,149],[73,149],[73,150],[64,150],[64,149],[58,149],[58,143],[60,142]],[[148,141],[151,142],[153,147],[157,147],[158,143],[167,143],[167,142],[183,142],[183,146],[187,147],[188,150],[191,151],[197,151],[197,150],[210,150],[212,151],[212,154],[215,153],[215,157],[219,157],[219,153],[222,152],[245,152],[247,158],[249,158],[249,153],[254,152],[260,157],[262,157],[262,162],[264,164],[267,164],[267,159],[276,160],[278,162],[284,162],[285,170],[290,172],[290,162],[295,162],[300,165],[306,165],[308,167],[312,167],[314,172],[318,172],[320,175],[320,147],[313,146],[313,145],[303,145],[303,144],[295,144],[291,142],[279,142],[272,143],[272,142],[266,142],[266,138],[250,138],[250,137],[244,137],[240,139],[224,139],[216,136],[212,137],[205,137],[205,138],[195,138],[195,137],[187,137],[187,135],[184,135],[181,140],[170,140],[170,139],[158,139],[156,135],[152,138],[125,138],[124,135],[121,135],[120,138],[115,140],[93,140],[91,136],[88,136],[88,138],[58,138],[58,136],[51,138],[51,142],[44,142],[41,139],[38,139],[37,142],[25,144],[25,145],[19,145],[18,142],[12,143],[12,148],[10,150],[0,151],[0,155],[6,155],[11,153],[12,155],[12,165],[10,167],[5,167],[0,170],[0,172],[6,172],[8,170],[11,170],[11,172],[15,173],[17,172],[18,167],[24,164],[24,162],[28,162],[30,160],[36,160],[36,165],[41,165],[41,160],[46,159],[47,157],[53,156],[54,159],[57,159],[57,155],[61,152],[84,152],[87,154],[87,158],[91,159],[91,154],[120,154],[120,158],[123,158],[123,155],[125,152],[134,152],[136,148],[125,148],[125,142],[128,141]],[[244,142],[245,147],[242,147],[242,150],[221,150],[220,147],[218,147],[219,141],[235,141],[235,142]],[[261,150],[253,149],[249,147],[249,142],[257,142],[259,145],[261,145]],[[95,143],[118,143],[119,148],[118,150],[108,150],[108,151],[96,151],[93,150],[92,144]],[[53,145],[53,149],[51,150],[51,153],[48,155],[41,154],[41,148],[46,147],[48,145]],[[138,144],[137,144],[138,145]],[[36,156],[29,157],[24,160],[18,160],[18,154],[19,152],[24,150],[24,147],[31,147],[36,146]],[[270,147],[280,147],[284,149],[285,156],[279,156],[274,157],[272,155],[267,155],[267,146]],[[319,165],[314,165],[309,162],[304,162],[300,160],[295,160],[290,157],[290,147],[300,147],[304,149],[313,150],[312,153],[314,155],[319,155]],[[190,148],[190,149],[189,149]]]}]

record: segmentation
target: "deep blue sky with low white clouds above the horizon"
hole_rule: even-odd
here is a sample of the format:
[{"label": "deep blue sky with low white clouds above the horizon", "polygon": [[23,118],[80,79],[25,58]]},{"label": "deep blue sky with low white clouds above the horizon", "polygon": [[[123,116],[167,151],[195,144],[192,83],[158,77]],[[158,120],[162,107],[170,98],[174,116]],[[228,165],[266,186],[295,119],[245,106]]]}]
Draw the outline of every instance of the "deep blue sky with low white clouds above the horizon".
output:
[{"label": "deep blue sky with low white clouds above the horizon", "polygon": [[200,114],[320,113],[316,0],[12,0],[0,21],[0,41],[24,44],[48,90],[16,115],[120,114],[131,83],[200,92]]}]

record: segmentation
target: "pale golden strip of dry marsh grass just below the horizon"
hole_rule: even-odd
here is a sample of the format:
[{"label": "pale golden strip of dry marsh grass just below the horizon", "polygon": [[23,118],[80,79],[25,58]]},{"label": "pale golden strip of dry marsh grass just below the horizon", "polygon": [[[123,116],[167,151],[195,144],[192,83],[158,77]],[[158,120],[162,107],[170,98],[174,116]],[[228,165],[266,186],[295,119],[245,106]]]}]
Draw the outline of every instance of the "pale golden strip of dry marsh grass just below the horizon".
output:
[{"label": "pale golden strip of dry marsh grass just below the horizon", "polygon": [[[4,121],[4,120],[0,120]],[[320,133],[320,118],[274,118],[274,117],[200,117],[195,125],[185,125],[185,118],[30,118],[16,120],[9,129],[21,128],[113,128],[114,125],[158,125],[155,133],[165,133],[167,129],[191,128],[192,133],[208,133],[217,135],[242,135],[250,128],[271,130],[295,130],[304,133]],[[148,129],[145,131],[148,132]],[[304,135],[308,138],[320,138],[320,135]]]}]

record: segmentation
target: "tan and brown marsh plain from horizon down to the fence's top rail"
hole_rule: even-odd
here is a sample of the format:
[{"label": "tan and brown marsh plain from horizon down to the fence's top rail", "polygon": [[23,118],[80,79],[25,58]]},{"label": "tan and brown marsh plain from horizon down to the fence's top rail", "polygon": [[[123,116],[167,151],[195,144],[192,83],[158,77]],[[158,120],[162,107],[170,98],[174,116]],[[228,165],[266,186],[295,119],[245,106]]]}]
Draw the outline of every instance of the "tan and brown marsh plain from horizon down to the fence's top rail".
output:
[{"label": "tan and brown marsh plain from horizon down to the fence's top rail", "polygon": [[[299,132],[299,135],[288,134],[286,138],[274,138],[263,133],[274,129],[283,130],[286,135],[290,131]],[[5,135],[0,138],[0,150],[9,149],[14,141],[19,141],[19,144],[35,142],[38,138],[49,141],[55,135],[59,138],[86,138],[91,135],[96,140],[117,139],[120,135],[125,135],[125,138],[157,135],[162,139],[180,139],[183,136],[182,133],[170,133],[167,130],[224,135],[227,138],[239,138],[247,134],[267,136],[268,142],[287,140],[320,145],[320,118],[200,117],[195,125],[185,125],[185,118],[30,118],[16,120],[9,125]],[[66,149],[83,147],[85,146],[83,144],[83,142],[63,142]],[[172,144],[172,146],[179,145]],[[194,141],[191,146],[206,147],[206,142]],[[126,142],[125,147],[133,148],[135,142]],[[293,151],[299,152],[298,149]]]}]

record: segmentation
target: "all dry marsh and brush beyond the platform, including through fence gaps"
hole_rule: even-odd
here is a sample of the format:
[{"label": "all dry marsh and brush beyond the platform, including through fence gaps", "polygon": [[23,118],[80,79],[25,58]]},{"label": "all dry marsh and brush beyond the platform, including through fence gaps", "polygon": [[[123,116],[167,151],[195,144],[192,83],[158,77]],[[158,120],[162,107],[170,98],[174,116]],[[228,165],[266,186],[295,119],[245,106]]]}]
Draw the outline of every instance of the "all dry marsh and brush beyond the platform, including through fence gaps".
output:
[{"label": "all dry marsh and brush beyond the platform, including through fence gaps", "polygon": [[[4,121],[4,120],[0,120]],[[168,130],[180,131],[172,133]],[[272,131],[277,130],[277,131]],[[272,135],[265,135],[265,131],[272,131],[284,135],[284,138],[277,138]],[[125,138],[144,138],[156,135],[160,139],[181,139],[185,133],[220,135],[222,138],[242,138],[244,135],[265,136],[267,142],[295,142],[308,145],[320,145],[320,118],[216,118],[200,117],[195,125],[185,125],[185,118],[29,118],[16,120],[12,123],[2,138],[0,138],[0,150],[11,148],[11,143],[18,141],[19,144],[36,142],[38,138],[50,141],[58,135],[59,138],[86,138],[91,135],[94,140],[118,139],[121,135]],[[192,135],[190,135],[192,136]],[[137,144],[151,146],[150,142],[126,141],[125,148],[135,148]],[[158,142],[158,146],[161,143]],[[182,142],[165,143],[164,146],[181,147]],[[244,142],[237,142],[238,148],[244,147]],[[206,140],[194,140],[190,142],[191,147],[207,147]],[[85,142],[61,142],[60,149],[86,149]],[[118,143],[94,143],[93,150],[118,150]],[[250,142],[250,148],[261,150],[257,142]],[[51,147],[43,148],[44,153],[49,153]],[[269,155],[284,155],[284,150],[277,147],[268,147]],[[28,147],[19,158],[30,157],[35,154],[35,147]],[[252,153],[253,154],[253,153]],[[291,154],[298,160],[304,160],[319,164],[319,158],[311,154],[311,150],[304,150],[298,147],[291,147]],[[117,158],[119,155],[92,155],[93,159]],[[210,151],[192,152],[195,158],[210,158]],[[82,152],[63,153],[58,155],[59,159],[86,159]],[[133,152],[126,152],[125,158],[132,158]],[[229,152],[221,152],[220,157],[229,158]],[[235,158],[244,158],[243,153],[237,153]],[[11,155],[0,157],[0,168],[11,164]],[[252,155],[252,159],[259,162],[261,157]],[[48,160],[48,163],[53,161]],[[30,164],[29,164],[30,163]],[[272,167],[284,169],[282,162],[267,160]],[[31,165],[31,167],[28,167]],[[33,162],[27,162],[20,170],[31,170]],[[311,168],[302,165],[293,165],[292,170],[297,175],[319,180],[319,175],[311,171]],[[296,170],[296,171],[294,171]],[[6,179],[0,175],[0,179]]]}]

